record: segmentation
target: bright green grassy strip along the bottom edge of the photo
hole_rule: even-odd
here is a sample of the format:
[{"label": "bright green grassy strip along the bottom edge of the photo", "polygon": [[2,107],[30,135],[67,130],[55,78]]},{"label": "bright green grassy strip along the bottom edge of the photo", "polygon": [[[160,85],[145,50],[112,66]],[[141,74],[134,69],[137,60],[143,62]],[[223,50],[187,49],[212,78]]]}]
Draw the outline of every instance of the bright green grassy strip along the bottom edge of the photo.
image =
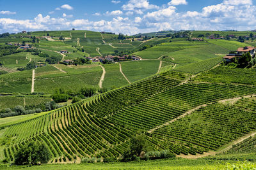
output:
[{"label": "bright green grassy strip along the bottom edge of the photo", "polygon": [[[212,159],[214,159],[213,157]],[[236,162],[234,160],[150,160],[143,162],[131,162],[131,163],[98,163],[98,164],[52,164],[43,166],[2,166],[2,169],[177,169],[177,170],[188,170],[188,169],[227,169],[232,170],[234,166],[243,166],[253,168],[255,162]]]}]

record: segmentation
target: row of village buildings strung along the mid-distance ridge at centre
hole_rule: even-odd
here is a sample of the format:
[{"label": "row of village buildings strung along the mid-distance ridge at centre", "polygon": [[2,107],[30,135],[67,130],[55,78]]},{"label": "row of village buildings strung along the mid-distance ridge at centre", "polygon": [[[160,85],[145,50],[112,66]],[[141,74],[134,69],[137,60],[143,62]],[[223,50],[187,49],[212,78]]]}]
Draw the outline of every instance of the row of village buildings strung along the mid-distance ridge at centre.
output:
[{"label": "row of village buildings strung along the mid-distance ridge at centre", "polygon": [[120,56],[113,56],[113,55],[108,55],[106,57],[86,57],[86,59],[92,60],[92,62],[103,62],[104,60],[108,60],[110,62],[114,61],[125,61],[125,60],[140,60],[139,57],[136,56],[129,56],[129,55],[124,55],[122,57]]}]

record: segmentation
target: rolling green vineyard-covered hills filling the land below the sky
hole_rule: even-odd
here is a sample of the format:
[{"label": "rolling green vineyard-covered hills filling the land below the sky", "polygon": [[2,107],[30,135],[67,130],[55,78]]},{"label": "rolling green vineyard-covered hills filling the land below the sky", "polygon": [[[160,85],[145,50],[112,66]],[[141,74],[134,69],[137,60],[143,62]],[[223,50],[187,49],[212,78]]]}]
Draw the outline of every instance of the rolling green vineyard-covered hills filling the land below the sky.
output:
[{"label": "rolling green vineyard-covered hills filling the land below the sky", "polygon": [[[206,34],[193,32],[193,36],[199,33]],[[46,39],[33,43],[25,35],[0,38],[1,45],[26,40],[49,57],[16,47],[2,50],[0,69],[6,73],[0,75],[0,109],[11,114],[10,109],[24,106],[29,115],[0,118],[1,161],[13,162],[15,153],[30,141],[47,146],[49,164],[121,160],[134,136],[141,134],[150,152],[168,151],[177,159],[127,163],[134,168],[172,164],[173,169],[177,165],[189,169],[195,164],[216,169],[225,168],[227,160],[235,164],[256,160],[255,66],[239,68],[222,62],[228,52],[250,45],[248,41],[172,37],[133,41],[106,32],[40,31],[29,36]],[[81,62],[113,53],[138,60]],[[46,63],[51,57],[60,60]],[[44,66],[17,70],[31,62]],[[88,95],[84,89],[95,91]],[[67,95],[67,101],[52,106],[56,93]],[[72,104],[75,97],[79,101]],[[39,106],[51,109],[33,111]],[[98,165],[126,167],[116,163],[92,168]]]}]

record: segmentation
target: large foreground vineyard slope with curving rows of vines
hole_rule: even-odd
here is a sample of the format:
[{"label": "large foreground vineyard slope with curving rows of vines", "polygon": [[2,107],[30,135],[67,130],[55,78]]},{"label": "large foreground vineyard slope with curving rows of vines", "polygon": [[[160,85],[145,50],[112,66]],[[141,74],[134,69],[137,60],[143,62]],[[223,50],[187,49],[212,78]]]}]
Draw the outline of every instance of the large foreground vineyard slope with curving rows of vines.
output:
[{"label": "large foreground vineyard slope with curving rows of vines", "polygon": [[1,124],[1,138],[12,141],[1,147],[1,159],[13,160],[28,141],[43,141],[51,162],[120,157],[129,139],[141,133],[150,150],[195,155],[256,130],[253,111],[216,103],[256,94],[254,86],[199,83],[189,81],[191,76],[164,72],[24,122]]}]

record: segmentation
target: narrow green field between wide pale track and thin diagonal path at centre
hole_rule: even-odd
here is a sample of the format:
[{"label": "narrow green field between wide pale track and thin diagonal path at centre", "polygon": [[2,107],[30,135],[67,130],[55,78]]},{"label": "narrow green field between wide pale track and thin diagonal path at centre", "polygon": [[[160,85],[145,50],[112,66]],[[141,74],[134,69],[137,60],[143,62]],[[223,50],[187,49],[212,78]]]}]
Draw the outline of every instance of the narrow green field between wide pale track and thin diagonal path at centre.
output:
[{"label": "narrow green field between wide pale track and thin diagonal path at centre", "polygon": [[104,67],[106,69],[106,75],[102,87],[115,89],[116,87],[122,87],[128,84],[127,80],[120,73],[119,64],[104,65]]}]

